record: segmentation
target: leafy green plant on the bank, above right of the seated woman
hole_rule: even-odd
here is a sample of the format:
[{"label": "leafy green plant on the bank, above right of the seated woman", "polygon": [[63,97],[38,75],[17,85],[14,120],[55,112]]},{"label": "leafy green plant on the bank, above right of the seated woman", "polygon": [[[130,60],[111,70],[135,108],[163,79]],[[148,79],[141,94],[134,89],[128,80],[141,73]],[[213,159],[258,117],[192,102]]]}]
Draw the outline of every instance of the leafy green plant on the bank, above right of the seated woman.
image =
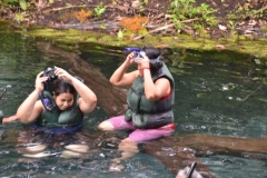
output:
[{"label": "leafy green plant on the bank, above right of the seated woman", "polygon": [[[199,7],[195,7],[196,0],[174,0],[169,6],[169,13],[172,22],[178,22],[186,19],[195,19],[192,24],[195,29],[204,30],[206,26],[216,24],[216,10],[210,8],[209,4],[201,3]],[[179,24],[176,28],[181,28],[184,24]]]}]

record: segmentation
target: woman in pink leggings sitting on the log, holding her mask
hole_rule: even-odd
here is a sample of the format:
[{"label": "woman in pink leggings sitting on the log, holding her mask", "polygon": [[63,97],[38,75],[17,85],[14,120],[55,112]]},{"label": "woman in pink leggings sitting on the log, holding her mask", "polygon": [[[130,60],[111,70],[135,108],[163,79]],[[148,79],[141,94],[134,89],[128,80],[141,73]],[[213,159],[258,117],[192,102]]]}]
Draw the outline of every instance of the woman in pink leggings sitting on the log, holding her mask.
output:
[{"label": "woman in pink leggings sitting on the log, holding her mask", "polygon": [[[130,87],[127,95],[128,109],[123,116],[102,121],[101,130],[132,130],[119,145],[125,150],[122,158],[138,151],[137,144],[158,139],[174,132],[175,82],[161,62],[160,50],[145,47],[129,53],[125,62],[113,72],[110,82],[117,87]],[[134,63],[137,70],[127,72]]]}]

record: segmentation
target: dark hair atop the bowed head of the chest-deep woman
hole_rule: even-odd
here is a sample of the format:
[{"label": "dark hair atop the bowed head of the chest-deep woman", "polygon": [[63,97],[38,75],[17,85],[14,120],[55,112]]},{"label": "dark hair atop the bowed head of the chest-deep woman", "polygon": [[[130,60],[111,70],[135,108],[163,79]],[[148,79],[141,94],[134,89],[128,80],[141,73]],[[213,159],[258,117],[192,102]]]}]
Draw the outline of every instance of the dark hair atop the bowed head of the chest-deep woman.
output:
[{"label": "dark hair atop the bowed head of the chest-deep woman", "polygon": [[52,91],[55,92],[56,96],[59,96],[60,93],[67,92],[67,93],[72,93],[73,97],[77,95],[77,91],[75,87],[62,79],[56,79],[53,81],[53,88]]}]

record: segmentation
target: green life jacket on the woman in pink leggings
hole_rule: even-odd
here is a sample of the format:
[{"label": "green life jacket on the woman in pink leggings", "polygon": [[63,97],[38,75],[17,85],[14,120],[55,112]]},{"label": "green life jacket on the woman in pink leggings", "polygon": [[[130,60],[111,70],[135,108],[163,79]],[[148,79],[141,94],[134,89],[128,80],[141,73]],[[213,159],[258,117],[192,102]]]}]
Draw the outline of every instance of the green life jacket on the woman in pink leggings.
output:
[{"label": "green life jacket on the woman in pink leggings", "polygon": [[167,99],[149,101],[145,96],[144,78],[138,76],[127,93],[128,109],[126,121],[131,121],[138,128],[159,128],[174,122],[172,105],[175,103],[175,81],[169,69],[162,68],[152,75],[154,82],[159,78],[170,81],[171,95]]}]

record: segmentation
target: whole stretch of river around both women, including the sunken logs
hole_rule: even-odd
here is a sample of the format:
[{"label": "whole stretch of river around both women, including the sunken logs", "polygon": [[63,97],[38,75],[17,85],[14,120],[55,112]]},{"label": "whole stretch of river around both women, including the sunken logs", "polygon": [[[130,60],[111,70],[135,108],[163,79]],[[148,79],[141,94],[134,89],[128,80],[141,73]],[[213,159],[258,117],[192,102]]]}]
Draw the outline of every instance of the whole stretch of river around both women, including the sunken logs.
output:
[{"label": "whole stretch of river around both women, including the sunken logs", "polygon": [[[234,51],[164,49],[165,62],[176,81],[176,132],[169,139],[140,146],[139,154],[123,161],[122,171],[109,172],[110,160],[120,155],[116,145],[127,134],[99,132],[97,125],[123,111],[126,90],[112,88],[108,82],[126,57],[123,49],[79,43],[71,46],[71,52],[68,52],[51,42],[36,41],[14,32],[1,31],[1,34],[4,36],[0,36],[0,89],[12,86],[0,101],[6,116],[16,112],[32,91],[36,75],[47,66],[60,66],[79,75],[99,97],[97,109],[86,116],[85,127],[78,134],[56,139],[32,134],[19,122],[4,126],[0,142],[1,177],[174,177],[175,171],[195,158],[202,165],[197,169],[205,172],[208,168],[215,177],[267,175],[266,152],[245,149],[246,141],[255,141],[257,146],[266,136],[266,59]],[[210,136],[206,142],[205,139],[199,141],[204,135]],[[26,157],[31,155],[27,152],[27,144],[39,141],[46,146],[49,156]],[[89,146],[89,151],[77,158],[60,157],[67,151],[66,146],[77,144]],[[228,146],[235,144],[240,149]],[[188,158],[189,155],[194,158]],[[172,160],[178,162],[174,164],[176,167],[170,164]]]}]

